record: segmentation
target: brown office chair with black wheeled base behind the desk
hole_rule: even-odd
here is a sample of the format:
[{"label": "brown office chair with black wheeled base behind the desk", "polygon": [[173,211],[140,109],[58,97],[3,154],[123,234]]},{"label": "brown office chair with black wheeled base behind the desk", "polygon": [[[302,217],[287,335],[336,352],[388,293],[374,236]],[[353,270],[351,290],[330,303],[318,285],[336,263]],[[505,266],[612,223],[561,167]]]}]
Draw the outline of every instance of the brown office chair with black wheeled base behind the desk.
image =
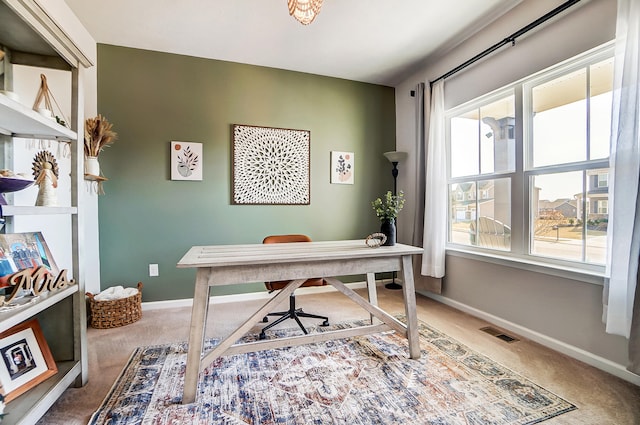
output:
[{"label": "brown office chair with black wheeled base behind the desk", "polygon": [[[262,243],[287,243],[287,242],[311,242],[311,238],[309,238],[306,235],[272,235],[272,236],[267,236],[262,241]],[[278,291],[278,290],[284,288],[289,283],[291,283],[290,280],[283,280],[283,281],[276,281],[276,282],[265,282],[265,286],[267,287],[269,292],[273,292],[273,291]],[[308,279],[306,282],[304,282],[302,284],[302,286],[324,286],[326,284],[327,284],[327,282],[325,282],[325,280],[323,278],[312,278],[312,279]],[[269,321],[268,316],[280,316],[280,318],[277,319],[275,322],[269,323],[267,326],[265,326],[262,329],[262,332],[260,332],[260,339],[265,339],[266,338],[266,335],[265,335],[264,332],[267,329],[270,329],[270,328],[272,328],[272,327],[284,322],[287,319],[295,320],[298,323],[298,326],[300,326],[300,329],[302,329],[302,332],[304,332],[305,334],[307,334],[308,332],[304,328],[304,326],[302,325],[302,322],[300,321],[300,317],[310,317],[312,319],[321,319],[321,320],[323,320],[323,322],[322,322],[322,324],[320,326],[329,326],[329,318],[328,317],[326,317],[326,316],[318,316],[316,314],[305,313],[305,312],[302,311],[301,308],[296,308],[296,297],[295,297],[295,294],[291,294],[289,296],[289,310],[267,314],[267,316],[265,316],[264,319],[262,319],[262,321],[264,323],[267,323]]]}]

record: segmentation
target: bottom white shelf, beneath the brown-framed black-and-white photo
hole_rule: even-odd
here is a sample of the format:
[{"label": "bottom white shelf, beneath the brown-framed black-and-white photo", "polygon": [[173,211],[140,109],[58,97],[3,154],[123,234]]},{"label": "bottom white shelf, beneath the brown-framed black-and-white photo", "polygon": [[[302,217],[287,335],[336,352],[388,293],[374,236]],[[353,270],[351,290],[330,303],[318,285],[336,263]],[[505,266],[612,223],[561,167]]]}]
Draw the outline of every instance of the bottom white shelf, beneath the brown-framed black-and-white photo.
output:
[{"label": "bottom white shelf, beneath the brown-framed black-and-white photo", "polygon": [[80,362],[56,362],[58,373],[9,402],[2,425],[34,424],[80,376]]}]

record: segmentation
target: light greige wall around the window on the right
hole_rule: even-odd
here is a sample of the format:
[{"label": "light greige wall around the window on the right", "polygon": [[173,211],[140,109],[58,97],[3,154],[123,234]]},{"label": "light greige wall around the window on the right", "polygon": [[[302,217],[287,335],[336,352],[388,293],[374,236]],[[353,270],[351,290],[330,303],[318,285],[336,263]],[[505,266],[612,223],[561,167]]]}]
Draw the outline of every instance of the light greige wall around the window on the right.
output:
[{"label": "light greige wall around the window on the right", "polygon": [[[415,151],[415,100],[419,82],[445,74],[498,43],[564,1],[525,0],[502,18],[431,58],[396,86],[397,149]],[[445,81],[447,108],[517,81],[615,37],[615,0],[581,1],[543,27],[505,46]],[[415,156],[415,155],[414,155]],[[398,187],[414,198],[413,161],[407,161]],[[407,204],[409,201],[407,201]],[[407,205],[402,222],[412,222]],[[399,229],[411,240],[411,229]],[[428,241],[425,241],[428,243]],[[602,286],[448,254],[441,296],[433,296],[499,326],[549,345],[611,373],[640,383],[626,372],[627,340],[604,331]],[[427,294],[428,295],[428,294]]]}]

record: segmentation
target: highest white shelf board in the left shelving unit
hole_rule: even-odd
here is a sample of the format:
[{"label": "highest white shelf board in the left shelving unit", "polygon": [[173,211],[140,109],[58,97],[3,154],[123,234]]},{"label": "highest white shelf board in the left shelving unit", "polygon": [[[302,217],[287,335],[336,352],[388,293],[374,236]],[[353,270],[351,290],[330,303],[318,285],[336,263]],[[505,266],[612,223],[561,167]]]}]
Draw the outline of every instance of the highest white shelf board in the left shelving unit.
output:
[{"label": "highest white shelf board in the left shelving unit", "polygon": [[0,94],[0,133],[28,139],[77,139],[74,131],[3,94]]}]

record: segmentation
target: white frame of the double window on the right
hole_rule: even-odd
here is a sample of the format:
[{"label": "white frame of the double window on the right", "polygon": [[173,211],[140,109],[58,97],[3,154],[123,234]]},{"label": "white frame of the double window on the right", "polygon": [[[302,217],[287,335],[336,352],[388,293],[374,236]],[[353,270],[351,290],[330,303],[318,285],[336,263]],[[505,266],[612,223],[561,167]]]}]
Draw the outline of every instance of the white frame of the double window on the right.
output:
[{"label": "white frame of the double window on the right", "polygon": [[[497,178],[509,178],[511,182],[511,250],[500,251],[490,248],[484,248],[474,245],[456,244],[450,241],[451,235],[451,205],[450,199],[447,201],[447,242],[446,250],[448,254],[463,256],[483,261],[496,262],[509,266],[534,270],[546,274],[552,274],[562,277],[575,279],[577,276],[580,280],[591,283],[602,283],[605,273],[605,266],[600,264],[586,263],[580,261],[569,261],[559,258],[550,258],[536,255],[531,252],[532,237],[531,225],[533,223],[532,204],[532,177],[536,175],[544,175],[556,172],[580,171],[583,178],[586,179],[588,170],[598,168],[609,168],[609,157],[589,160],[590,152],[587,151],[587,159],[585,161],[572,162],[560,165],[546,165],[533,167],[532,143],[529,143],[532,137],[532,125],[527,122],[525,113],[532,110],[531,88],[551,81],[560,75],[566,75],[579,69],[584,69],[590,65],[596,64],[607,58],[614,56],[613,43],[606,43],[595,49],[584,52],[581,55],[560,62],[552,67],[537,72],[529,77],[523,78],[505,87],[493,92],[479,96],[471,101],[457,105],[445,111],[445,137],[446,137],[446,154],[447,154],[447,191],[453,183],[475,182],[480,183],[483,180],[491,180]],[[589,75],[589,73],[588,73]],[[470,176],[451,177],[451,119],[471,110],[479,110],[483,105],[488,105],[499,100],[506,95],[514,95],[515,100],[515,170],[513,172],[494,172],[482,174],[479,168],[478,174]],[[587,81],[587,98],[590,96],[590,81]],[[529,108],[529,109],[527,109]],[[587,114],[590,111],[587,109]],[[525,127],[526,126],[526,127]],[[525,131],[526,128],[526,131]],[[587,121],[587,137],[589,137],[589,121]],[[589,146],[590,142],[587,142]],[[598,179],[599,182],[599,179]],[[589,188],[587,182],[584,181],[585,191],[588,193]],[[600,187],[600,186],[598,186]],[[604,187],[604,186],[603,186]],[[583,211],[588,205],[586,199],[582,200]],[[586,205],[585,205],[586,204]]]}]

